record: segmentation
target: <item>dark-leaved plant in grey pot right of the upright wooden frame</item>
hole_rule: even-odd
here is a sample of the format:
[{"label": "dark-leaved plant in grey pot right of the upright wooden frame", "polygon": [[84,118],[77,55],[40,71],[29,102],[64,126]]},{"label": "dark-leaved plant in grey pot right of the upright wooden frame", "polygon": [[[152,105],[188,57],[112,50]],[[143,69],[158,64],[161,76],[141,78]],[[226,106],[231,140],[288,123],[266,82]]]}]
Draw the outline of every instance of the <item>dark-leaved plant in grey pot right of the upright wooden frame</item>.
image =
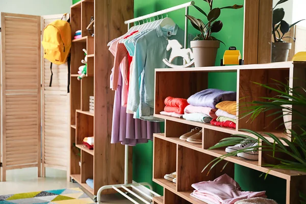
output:
[{"label": "dark-leaved plant in grey pot right of the upright wooden frame", "polygon": [[[279,2],[277,2],[275,7],[287,1],[288,0],[280,0]],[[285,37],[285,34],[290,31],[291,27],[293,27],[296,23],[302,20],[299,20],[289,25],[285,20],[283,20],[285,17],[284,9],[283,8],[275,9],[275,7],[273,8],[272,34],[273,34],[274,42],[272,42],[271,61],[272,62],[286,62],[288,59],[289,50],[291,49],[291,43],[285,42],[283,39],[292,38],[290,36]],[[278,31],[278,29],[281,31],[282,34]],[[295,41],[294,38],[292,39]]]}]

